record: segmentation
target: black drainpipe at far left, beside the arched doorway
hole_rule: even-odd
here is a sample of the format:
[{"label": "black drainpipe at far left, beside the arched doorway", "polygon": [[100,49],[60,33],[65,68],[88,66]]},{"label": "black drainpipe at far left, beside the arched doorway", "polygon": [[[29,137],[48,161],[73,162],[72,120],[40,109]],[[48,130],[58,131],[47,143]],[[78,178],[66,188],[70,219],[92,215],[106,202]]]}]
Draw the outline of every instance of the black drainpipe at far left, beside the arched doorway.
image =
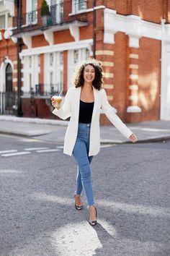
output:
[{"label": "black drainpipe at far left, beside the arched doorway", "polygon": [[[17,1],[17,30],[21,30],[21,18],[22,18],[22,0]],[[22,81],[21,81],[21,59],[19,58],[19,53],[22,51],[22,39],[17,40],[17,116],[22,117]]]}]

